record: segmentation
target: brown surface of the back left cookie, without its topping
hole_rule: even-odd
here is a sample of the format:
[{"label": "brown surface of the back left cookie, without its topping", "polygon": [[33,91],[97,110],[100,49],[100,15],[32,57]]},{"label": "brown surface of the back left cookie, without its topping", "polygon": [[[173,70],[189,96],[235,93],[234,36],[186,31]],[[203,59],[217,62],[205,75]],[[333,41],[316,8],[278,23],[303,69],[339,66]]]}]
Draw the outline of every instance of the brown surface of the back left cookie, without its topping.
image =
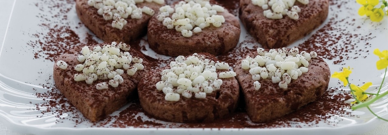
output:
[{"label": "brown surface of the back left cookie, without its topping", "polygon": [[[155,12],[163,5],[154,2],[137,3],[137,7],[147,6]],[[131,19],[129,16],[123,29],[112,27],[113,20],[105,20],[103,16],[97,13],[96,8],[88,5],[88,0],[76,0],[76,12],[78,18],[85,26],[90,29],[98,38],[104,42],[125,42],[136,40],[147,33],[147,24],[152,17],[143,13],[141,19]]]}]

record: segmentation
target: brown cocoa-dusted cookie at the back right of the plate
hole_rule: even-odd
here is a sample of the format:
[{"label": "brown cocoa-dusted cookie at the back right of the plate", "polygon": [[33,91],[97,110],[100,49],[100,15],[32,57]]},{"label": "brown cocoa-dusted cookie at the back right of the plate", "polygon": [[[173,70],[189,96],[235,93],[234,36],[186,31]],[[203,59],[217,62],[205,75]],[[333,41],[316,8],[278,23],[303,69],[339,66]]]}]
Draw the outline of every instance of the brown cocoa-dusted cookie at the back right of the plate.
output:
[{"label": "brown cocoa-dusted cookie at the back right of the plate", "polygon": [[[264,48],[286,47],[303,38],[326,20],[329,11],[329,0],[297,0],[294,1],[294,5],[298,8],[290,7],[288,13],[292,13],[292,17],[297,19],[292,19],[287,14],[282,15],[282,19],[270,19],[264,15],[265,10],[254,5],[252,1],[260,0],[240,0],[239,17],[248,33],[256,38]],[[299,1],[303,3],[307,1],[307,5]],[[272,9],[268,5],[263,7]],[[275,11],[271,10],[271,12]],[[276,16],[268,15],[268,17]]]}]

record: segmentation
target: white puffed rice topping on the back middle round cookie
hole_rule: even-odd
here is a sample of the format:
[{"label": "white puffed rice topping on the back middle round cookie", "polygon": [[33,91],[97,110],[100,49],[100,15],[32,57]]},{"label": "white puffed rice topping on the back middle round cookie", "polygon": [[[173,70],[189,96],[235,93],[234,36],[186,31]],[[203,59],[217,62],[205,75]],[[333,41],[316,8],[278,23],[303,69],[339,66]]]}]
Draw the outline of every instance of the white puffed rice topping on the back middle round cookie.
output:
[{"label": "white puffed rice topping on the back middle round cookie", "polygon": [[212,24],[221,27],[225,18],[217,15],[225,9],[220,5],[210,5],[209,0],[184,0],[174,8],[165,5],[159,8],[160,14],[156,17],[168,29],[174,29],[182,33],[184,37],[191,37],[202,29]]}]

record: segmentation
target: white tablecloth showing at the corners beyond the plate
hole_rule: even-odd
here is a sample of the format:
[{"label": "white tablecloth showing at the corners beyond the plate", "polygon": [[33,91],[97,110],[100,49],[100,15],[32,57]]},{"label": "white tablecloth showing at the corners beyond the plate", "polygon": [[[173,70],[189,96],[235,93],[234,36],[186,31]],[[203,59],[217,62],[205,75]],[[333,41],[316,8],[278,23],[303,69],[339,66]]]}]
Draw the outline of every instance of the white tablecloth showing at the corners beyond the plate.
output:
[{"label": "white tablecloth showing at the corners beyond the plate", "polygon": [[[9,22],[9,17],[12,12],[13,0],[0,0],[0,43],[4,41],[6,35],[7,24]],[[367,131],[365,131],[367,132]],[[11,131],[7,128],[6,125],[0,123],[0,135],[23,135],[17,133],[17,131]],[[383,123],[382,125],[376,127],[375,129],[359,135],[388,135],[388,123]]]}]

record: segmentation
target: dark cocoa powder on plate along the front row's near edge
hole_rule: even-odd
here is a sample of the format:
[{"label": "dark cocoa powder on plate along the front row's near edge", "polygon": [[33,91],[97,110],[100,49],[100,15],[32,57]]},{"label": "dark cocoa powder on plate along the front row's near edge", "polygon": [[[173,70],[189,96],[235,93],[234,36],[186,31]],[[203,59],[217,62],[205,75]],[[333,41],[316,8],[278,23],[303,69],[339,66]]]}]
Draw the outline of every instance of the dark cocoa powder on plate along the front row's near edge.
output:
[{"label": "dark cocoa powder on plate along the front row's near edge", "polygon": [[[230,114],[224,119],[218,119],[213,123],[171,123],[169,125],[158,123],[157,121],[143,121],[137,116],[143,113],[139,105],[139,101],[134,101],[128,108],[120,112],[120,115],[114,121],[114,127],[134,126],[139,128],[279,128],[279,127],[294,127],[295,123],[305,123],[309,126],[315,126],[315,123],[324,122],[335,125],[336,122],[327,120],[331,116],[351,116],[349,112],[349,103],[344,101],[351,99],[352,95],[348,93],[337,93],[331,95],[338,89],[328,90],[320,99],[311,102],[298,111],[292,112],[286,116],[274,119],[268,123],[255,124],[252,123],[244,108],[237,109],[237,112]],[[334,98],[334,99],[333,99]],[[148,116],[152,118],[151,116]]]}]

